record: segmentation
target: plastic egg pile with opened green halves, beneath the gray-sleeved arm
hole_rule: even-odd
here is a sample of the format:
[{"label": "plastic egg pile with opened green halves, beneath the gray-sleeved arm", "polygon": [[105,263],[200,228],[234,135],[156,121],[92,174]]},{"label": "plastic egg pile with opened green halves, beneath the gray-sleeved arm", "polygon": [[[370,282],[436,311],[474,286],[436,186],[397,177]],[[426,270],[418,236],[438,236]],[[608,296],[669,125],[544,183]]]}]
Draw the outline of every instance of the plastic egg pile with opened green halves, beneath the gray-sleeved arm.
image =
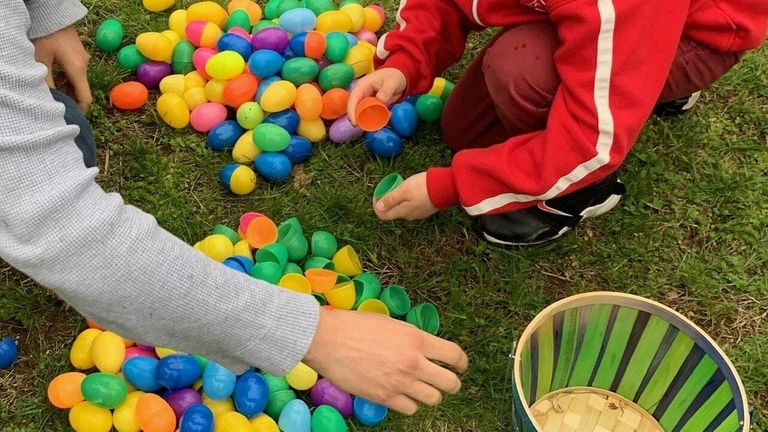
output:
[{"label": "plastic egg pile with opened green halves, beneath the gray-sleeved arm", "polygon": [[[405,316],[426,331],[439,329],[432,304],[411,307],[402,287],[382,289],[351,246],[339,248],[326,231],[308,240],[295,218],[276,225],[246,213],[238,232],[217,225],[195,248],[234,270],[312,294],[326,308]],[[388,415],[304,363],[282,377],[255,369],[236,375],[202,356],[136,344],[88,324],[70,351],[77,371],[48,386],[49,401],[70,410],[76,432],[346,432],[347,419],[374,426]]]}]

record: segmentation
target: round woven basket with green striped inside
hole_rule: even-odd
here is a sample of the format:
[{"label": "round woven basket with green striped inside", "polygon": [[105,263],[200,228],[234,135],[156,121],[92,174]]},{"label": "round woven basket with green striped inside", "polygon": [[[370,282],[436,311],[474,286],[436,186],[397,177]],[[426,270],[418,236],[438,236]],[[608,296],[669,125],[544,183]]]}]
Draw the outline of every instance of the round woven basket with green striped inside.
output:
[{"label": "round woven basket with green striped inside", "polygon": [[528,325],[512,362],[519,432],[749,430],[744,386],[720,347],[642,297],[561,300]]}]

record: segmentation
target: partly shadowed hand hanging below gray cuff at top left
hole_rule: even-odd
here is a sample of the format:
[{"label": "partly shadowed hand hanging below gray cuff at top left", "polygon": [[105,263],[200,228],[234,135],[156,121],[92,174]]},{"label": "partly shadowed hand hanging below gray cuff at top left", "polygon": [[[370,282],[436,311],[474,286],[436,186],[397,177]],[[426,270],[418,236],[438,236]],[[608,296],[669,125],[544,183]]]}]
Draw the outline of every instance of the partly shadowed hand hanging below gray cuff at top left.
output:
[{"label": "partly shadowed hand hanging below gray cuff at top left", "polygon": [[35,60],[48,68],[48,76],[45,78],[48,87],[56,87],[53,80],[55,65],[64,72],[72,87],[70,96],[77,101],[83,111],[87,111],[93,101],[91,87],[88,84],[89,56],[75,28],[66,27],[51,35],[35,39],[32,44],[35,46]]}]

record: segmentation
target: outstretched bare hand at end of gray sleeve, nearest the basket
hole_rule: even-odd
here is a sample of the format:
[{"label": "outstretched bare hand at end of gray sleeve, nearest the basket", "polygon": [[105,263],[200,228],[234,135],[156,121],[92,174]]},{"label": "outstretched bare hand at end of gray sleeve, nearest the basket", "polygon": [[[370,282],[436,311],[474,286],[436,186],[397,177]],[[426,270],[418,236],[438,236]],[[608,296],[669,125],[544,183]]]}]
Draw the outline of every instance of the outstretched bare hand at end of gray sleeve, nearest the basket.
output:
[{"label": "outstretched bare hand at end of gray sleeve, nearest the basket", "polygon": [[461,373],[468,364],[458,345],[408,323],[326,309],[304,361],[342,389],[408,415],[457,393],[461,381],[449,368]]}]

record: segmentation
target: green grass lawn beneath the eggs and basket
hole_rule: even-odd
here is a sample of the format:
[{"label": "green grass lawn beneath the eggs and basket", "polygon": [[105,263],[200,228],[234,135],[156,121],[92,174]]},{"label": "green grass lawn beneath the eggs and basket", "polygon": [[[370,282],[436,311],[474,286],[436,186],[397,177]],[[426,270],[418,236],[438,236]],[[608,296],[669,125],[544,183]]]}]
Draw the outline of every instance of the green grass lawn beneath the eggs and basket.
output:
[{"label": "green grass lawn beneath the eggs and basket", "polygon": [[[101,145],[99,183],[190,243],[216,223],[234,226],[245,211],[298,216],[307,231],[353,244],[386,282],[435,302],[442,336],[469,353],[464,389],[376,430],[498,429],[513,341],[542,308],[595,290],[647,296],[693,319],[734,361],[751,406],[768,415],[768,49],[748,55],[693,112],[649,121],[621,169],[629,193],[616,210],[557,243],[500,250],[479,241],[458,210],[416,223],[382,223],[370,210],[384,175],[449,162],[435,127],[420,128],[394,162],[373,159],[360,143],[321,143],[290,180],[261,183],[242,198],[223,193],[217,174],[229,156],[206,150],[203,136],[160,126],[152,109],[109,108],[109,89],[124,76],[114,55],[93,50],[92,36],[108,16],[123,21],[129,38],[165,28],[165,15],[139,3],[86,1],[91,12],[80,25],[93,54],[89,115]],[[382,3],[392,16],[394,0]],[[469,53],[487,37],[473,37]],[[455,80],[467,61],[446,76]],[[0,431],[67,430],[66,413],[48,405],[45,387],[70,370],[68,349],[83,320],[5,264],[0,276],[0,335],[21,346],[13,369],[0,371]]]}]

